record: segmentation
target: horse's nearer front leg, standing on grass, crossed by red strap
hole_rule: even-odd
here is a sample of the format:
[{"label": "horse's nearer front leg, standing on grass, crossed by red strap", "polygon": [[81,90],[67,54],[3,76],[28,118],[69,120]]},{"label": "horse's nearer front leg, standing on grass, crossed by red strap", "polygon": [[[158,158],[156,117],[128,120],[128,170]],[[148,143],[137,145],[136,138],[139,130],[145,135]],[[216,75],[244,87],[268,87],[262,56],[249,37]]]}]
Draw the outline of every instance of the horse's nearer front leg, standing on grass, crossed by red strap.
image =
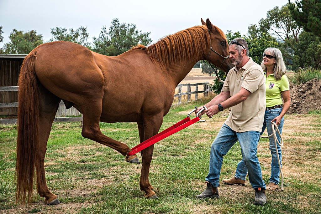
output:
[{"label": "horse's nearer front leg, standing on grass, crossed by red strap", "polygon": [[[156,135],[163,122],[163,114],[154,115],[149,118],[144,118],[144,140],[151,138]],[[140,189],[145,192],[146,198],[157,198],[155,192],[152,190],[153,187],[149,183],[149,169],[152,161],[154,145],[151,145],[142,151],[142,173],[140,177]]]}]

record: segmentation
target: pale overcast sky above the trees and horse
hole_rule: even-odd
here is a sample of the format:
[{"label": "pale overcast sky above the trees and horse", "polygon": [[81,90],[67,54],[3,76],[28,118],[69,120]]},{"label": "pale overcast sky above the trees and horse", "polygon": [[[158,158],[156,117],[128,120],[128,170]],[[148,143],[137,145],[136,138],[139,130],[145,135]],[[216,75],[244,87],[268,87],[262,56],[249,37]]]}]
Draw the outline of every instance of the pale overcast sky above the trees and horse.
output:
[{"label": "pale overcast sky above the trees and horse", "polygon": [[[153,43],[161,37],[195,25],[201,18],[210,19],[226,33],[247,33],[250,24],[265,18],[266,12],[281,7],[288,0],[0,0],[0,26],[3,26],[4,43],[13,29],[36,30],[43,40],[51,38],[50,29],[87,27],[92,37],[98,37],[101,28],[109,28],[112,19],[133,23],[142,32],[151,32]],[[291,0],[293,2],[293,0]]]}]

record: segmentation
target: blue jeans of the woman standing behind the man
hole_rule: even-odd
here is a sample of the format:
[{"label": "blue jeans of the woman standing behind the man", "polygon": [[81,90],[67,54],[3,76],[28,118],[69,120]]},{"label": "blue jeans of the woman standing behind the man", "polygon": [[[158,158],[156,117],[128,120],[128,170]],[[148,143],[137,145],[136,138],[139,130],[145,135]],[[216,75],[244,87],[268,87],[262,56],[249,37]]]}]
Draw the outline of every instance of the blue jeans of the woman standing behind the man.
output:
[{"label": "blue jeans of the woman standing behind the man", "polygon": [[[271,109],[269,111],[265,111],[264,123],[263,123],[261,135],[265,131],[265,128],[267,128],[268,135],[271,135],[273,133],[271,121],[276,116],[280,115],[281,111],[282,111],[282,108]],[[283,124],[284,124],[284,118],[281,119],[281,122],[278,126],[281,134],[282,134]],[[279,136],[278,132],[276,132],[276,136],[277,136],[278,141],[281,142],[281,137]],[[272,182],[274,184],[278,184],[280,182],[280,168],[279,168],[279,162],[278,162],[278,157],[276,154],[273,136],[269,137],[269,142],[270,142],[269,149],[270,149],[271,155],[272,155],[271,177],[269,178],[269,182]],[[281,167],[282,167],[282,153],[281,153],[281,147],[279,144],[277,144],[277,148],[278,148],[280,163],[281,163]],[[247,174],[247,167],[246,167],[245,163],[243,162],[243,160],[241,160],[238,163],[238,166],[236,168],[235,177],[238,179],[241,179],[241,180],[245,180],[246,174]]]}]

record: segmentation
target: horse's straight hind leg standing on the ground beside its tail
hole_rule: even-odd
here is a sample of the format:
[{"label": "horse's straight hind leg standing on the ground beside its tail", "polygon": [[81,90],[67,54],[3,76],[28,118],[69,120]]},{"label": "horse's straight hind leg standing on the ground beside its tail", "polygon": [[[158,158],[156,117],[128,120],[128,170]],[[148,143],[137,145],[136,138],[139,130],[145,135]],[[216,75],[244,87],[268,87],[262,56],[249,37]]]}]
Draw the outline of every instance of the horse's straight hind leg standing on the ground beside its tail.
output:
[{"label": "horse's straight hind leg standing on the ground beside its tail", "polygon": [[[38,193],[41,197],[45,197],[45,203],[48,205],[55,205],[60,203],[57,196],[51,193],[48,189],[45,176],[45,155],[47,150],[47,142],[55,119],[55,114],[58,109],[60,98],[50,93],[43,86],[39,86],[40,100],[39,100],[39,169],[37,173]],[[39,174],[40,173],[40,174]]]}]

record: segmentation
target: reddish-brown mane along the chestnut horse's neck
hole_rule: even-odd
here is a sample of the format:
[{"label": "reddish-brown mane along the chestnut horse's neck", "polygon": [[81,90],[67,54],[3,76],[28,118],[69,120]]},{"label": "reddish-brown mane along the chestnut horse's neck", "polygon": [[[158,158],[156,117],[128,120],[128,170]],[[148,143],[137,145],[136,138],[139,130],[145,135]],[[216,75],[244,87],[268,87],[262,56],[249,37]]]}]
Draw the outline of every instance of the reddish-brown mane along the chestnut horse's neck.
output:
[{"label": "reddish-brown mane along the chestnut horse's neck", "polygon": [[[225,34],[218,27],[214,26],[222,37]],[[155,63],[160,64],[161,67],[173,63],[180,63],[182,59],[193,60],[201,58],[204,50],[209,49],[209,33],[206,26],[195,26],[186,30],[181,30],[177,33],[169,35],[160,39],[153,45],[145,47],[144,45],[137,45],[133,49],[145,49],[148,56]]]}]

